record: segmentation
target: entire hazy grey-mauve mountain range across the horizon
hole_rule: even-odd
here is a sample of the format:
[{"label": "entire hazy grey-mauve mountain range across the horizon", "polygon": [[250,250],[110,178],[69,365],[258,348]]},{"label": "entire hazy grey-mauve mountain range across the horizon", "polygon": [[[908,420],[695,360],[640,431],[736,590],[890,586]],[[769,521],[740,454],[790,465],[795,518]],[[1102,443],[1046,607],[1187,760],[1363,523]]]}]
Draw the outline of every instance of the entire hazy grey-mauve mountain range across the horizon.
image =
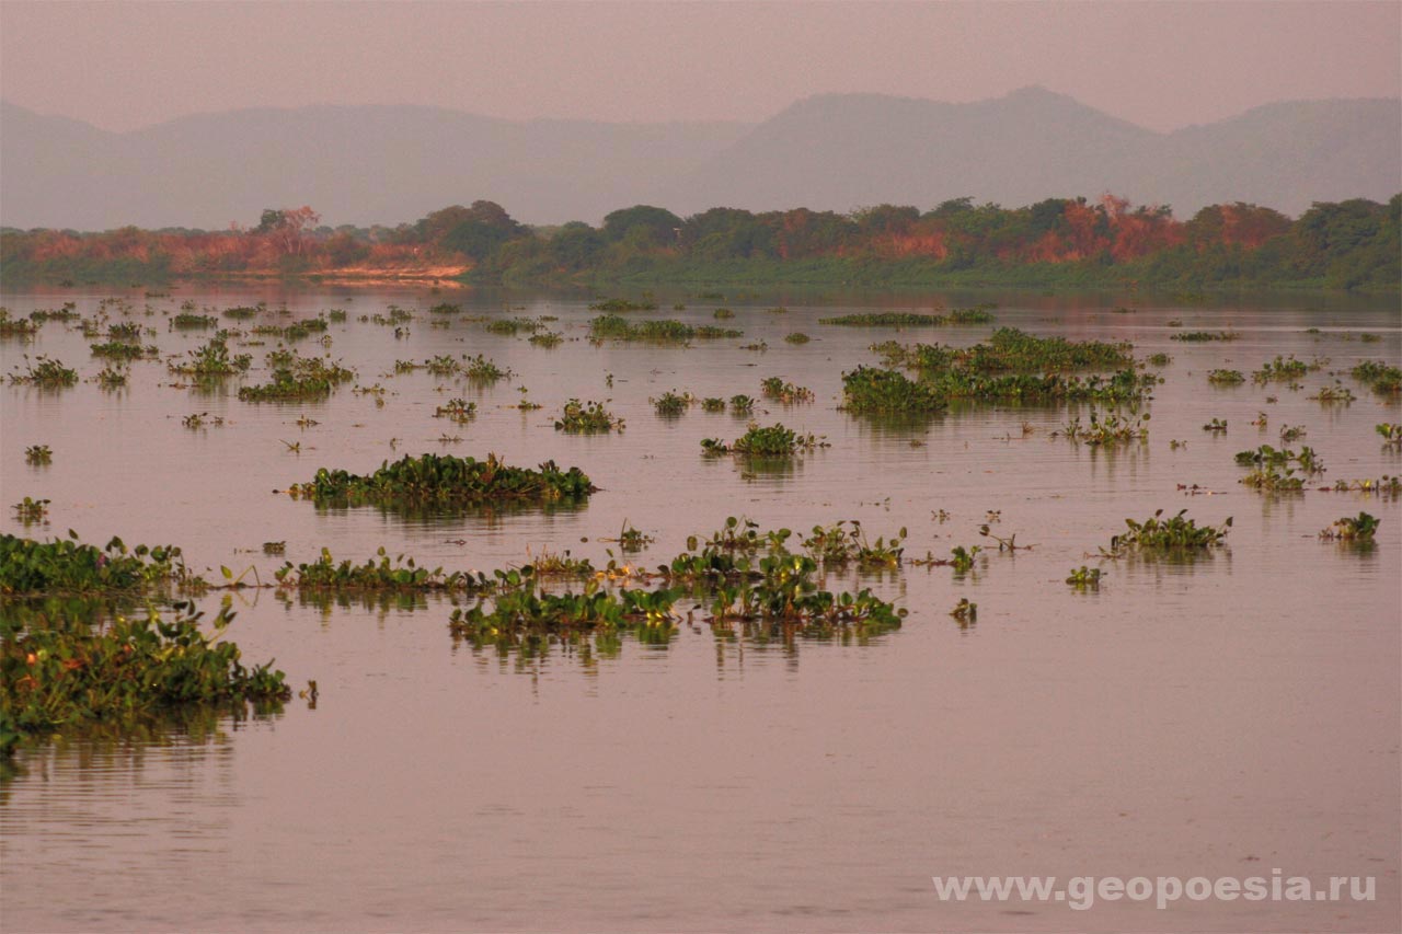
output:
[{"label": "entire hazy grey-mauve mountain range across the horizon", "polygon": [[304,203],[332,226],[412,222],[477,199],[527,223],[597,223],[635,203],[845,212],[1103,192],[1179,217],[1231,201],[1298,215],[1398,191],[1396,98],[1269,104],[1172,133],[1039,87],[973,104],[827,94],[757,125],[306,107],[111,133],[0,101],[0,224],[25,229],[223,229]]}]

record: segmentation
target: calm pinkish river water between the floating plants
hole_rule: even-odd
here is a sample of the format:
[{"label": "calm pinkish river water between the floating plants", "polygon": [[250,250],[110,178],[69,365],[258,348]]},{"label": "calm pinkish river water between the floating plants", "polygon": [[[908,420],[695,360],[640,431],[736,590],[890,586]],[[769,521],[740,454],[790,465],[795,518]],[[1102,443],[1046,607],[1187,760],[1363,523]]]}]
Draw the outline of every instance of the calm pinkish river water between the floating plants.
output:
[{"label": "calm pinkish river water between the floating plants", "polygon": [[[14,293],[13,314],[108,293]],[[245,659],[276,656],[297,687],[272,718],[196,718],[184,729],[121,740],[59,740],[27,753],[0,788],[6,930],[1396,930],[1399,917],[1399,623],[1402,510],[1366,494],[1263,496],[1237,480],[1232,454],[1304,425],[1326,482],[1402,473],[1374,425],[1402,421],[1347,376],[1360,359],[1402,358],[1395,299],[1291,297],[1200,306],[1124,296],[997,296],[998,325],[1039,335],[1133,341],[1172,355],[1148,407],[1150,440],[1119,452],[1052,438],[1077,410],[970,408],[890,425],[837,411],[841,372],[872,363],[876,341],[967,345],[995,325],[837,328],[819,317],[930,310],[986,296],[794,297],[730,295],[725,324],[742,339],[690,349],[585,338],[583,300],[414,290],[282,292],[181,287],[123,293],[156,330],[161,360],[205,332],[168,330],[179,302],[217,313],[266,300],[264,323],[345,309],[328,352],[359,384],[299,405],[237,400],[237,380],[202,394],[161,360],[130,386],[60,393],[0,387],[0,524],[8,503],[52,501],[50,526],[88,541],[177,543],[191,564],[264,579],[320,548],[365,560],[384,546],[421,564],[484,569],[541,548],[606,560],[624,522],[656,537],[659,564],[693,533],[747,515],[765,527],[861,519],[875,537],[908,527],[907,555],[980,544],[977,529],[1035,544],[949,568],[866,576],[910,610],[899,631],[855,641],[761,642],[681,624],[667,645],[625,638],[615,656],[555,647],[522,659],[454,645],[450,603],[296,596],[234,597],[231,635]],[[460,316],[430,314],[443,300]],[[665,296],[655,316],[712,323],[719,300]],[[784,302],[787,314],[767,311]],[[362,323],[394,303],[415,313]],[[1116,306],[1136,309],[1112,313]],[[147,314],[150,310],[150,314]],[[122,311],[111,310],[112,320]],[[486,332],[478,316],[557,316],[555,349]],[[447,327],[435,327],[440,320]],[[1230,327],[1230,344],[1169,339]],[[251,323],[241,327],[250,328]],[[1308,334],[1316,327],[1319,334]],[[813,341],[791,345],[803,331]],[[1380,335],[1363,342],[1361,334]],[[244,338],[254,339],[250,334]],[[764,341],[765,352],[740,345]],[[238,341],[234,342],[236,345]],[[254,353],[248,381],[262,381]],[[237,348],[236,348],[237,349]],[[84,377],[101,369],[77,328],[46,324],[0,342],[0,370],[46,353]],[[484,353],[515,370],[472,388],[395,359]],[[1276,355],[1329,358],[1284,384],[1214,388],[1214,367],[1249,373]],[[1359,395],[1308,395],[1338,372]],[[613,374],[613,386],[606,383]],[[760,395],[765,376],[812,387],[816,401],[761,402],[760,421],[827,436],[792,470],[753,475],[704,460],[700,439],[735,438],[743,419],[694,408],[674,421],[649,397]],[[520,387],[544,408],[509,408]],[[477,419],[433,418],[447,398]],[[1267,395],[1276,397],[1267,401]],[[566,436],[565,400],[610,400],[627,431]],[[224,418],[192,431],[193,412]],[[1269,426],[1251,422],[1266,412]],[[1080,410],[1084,417],[1085,410]],[[300,417],[317,421],[299,428]],[[1230,429],[1211,435],[1213,417]],[[1023,429],[1026,425],[1026,431]],[[444,433],[460,442],[440,442]],[[1186,446],[1171,447],[1171,440]],[[48,443],[31,467],[24,447]],[[300,445],[294,452],[289,445]],[[1297,446],[1298,446],[1297,443]],[[447,452],[534,466],[579,466],[601,488],[575,510],[398,516],[318,510],[275,494],[318,467],[363,473],[386,459]],[[1211,495],[1187,496],[1179,484]],[[1126,517],[1187,508],[1234,517],[1228,547],[1199,561],[1105,562],[1098,593],[1063,581]],[[938,510],[948,512],[939,522]],[[1343,515],[1382,519],[1371,550],[1319,541]],[[857,585],[855,578],[830,579]],[[949,610],[979,604],[960,628]],[[217,596],[203,606],[217,606]],[[1133,902],[1073,912],[1064,903],[946,903],[931,875],[1375,877],[1364,903]]]}]

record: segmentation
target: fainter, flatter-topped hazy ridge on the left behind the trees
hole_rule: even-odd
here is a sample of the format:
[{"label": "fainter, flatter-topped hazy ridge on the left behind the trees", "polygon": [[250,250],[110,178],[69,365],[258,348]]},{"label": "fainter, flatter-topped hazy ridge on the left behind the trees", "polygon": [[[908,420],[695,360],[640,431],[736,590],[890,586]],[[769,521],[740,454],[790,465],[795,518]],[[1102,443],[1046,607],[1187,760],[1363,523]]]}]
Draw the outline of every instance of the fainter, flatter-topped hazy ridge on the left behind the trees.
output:
[{"label": "fainter, flatter-topped hazy ridge on the left behind the trees", "polygon": [[394,224],[478,198],[531,222],[596,220],[747,129],[310,107],[203,114],[115,135],[4,104],[0,223],[220,229],[257,223],[264,208],[308,203],[331,224]]}]

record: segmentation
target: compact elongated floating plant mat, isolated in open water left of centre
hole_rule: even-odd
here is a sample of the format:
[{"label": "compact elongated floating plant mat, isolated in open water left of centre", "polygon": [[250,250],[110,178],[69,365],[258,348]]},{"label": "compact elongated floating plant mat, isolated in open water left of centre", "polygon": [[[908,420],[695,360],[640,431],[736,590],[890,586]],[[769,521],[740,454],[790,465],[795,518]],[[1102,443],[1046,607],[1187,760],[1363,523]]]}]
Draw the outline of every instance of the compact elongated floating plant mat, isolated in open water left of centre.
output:
[{"label": "compact elongated floating plant mat, isolated in open water left of centre", "polygon": [[561,470],[550,460],[540,470],[510,467],[496,454],[486,460],[451,454],[405,454],[395,463],[384,461],[372,474],[358,475],[345,470],[317,471],[311,481],[293,484],[287,492],[317,502],[362,503],[484,503],[498,502],[573,502],[594,492],[589,477],[578,467]]}]

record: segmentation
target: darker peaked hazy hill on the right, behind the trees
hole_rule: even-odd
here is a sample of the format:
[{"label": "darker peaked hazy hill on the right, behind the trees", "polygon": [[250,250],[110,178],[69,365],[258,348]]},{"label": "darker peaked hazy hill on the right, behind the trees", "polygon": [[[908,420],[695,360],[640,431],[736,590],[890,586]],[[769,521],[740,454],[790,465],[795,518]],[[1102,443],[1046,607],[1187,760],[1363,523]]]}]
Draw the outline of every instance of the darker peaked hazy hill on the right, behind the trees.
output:
[{"label": "darker peaked hazy hill on the right, behind the trees", "polygon": [[1298,215],[1314,201],[1402,189],[1402,102],[1319,101],[1155,133],[1043,88],[976,104],[878,95],[801,101],[666,191],[669,206],[928,209],[1005,206],[1105,191],[1179,216],[1251,201]]}]

